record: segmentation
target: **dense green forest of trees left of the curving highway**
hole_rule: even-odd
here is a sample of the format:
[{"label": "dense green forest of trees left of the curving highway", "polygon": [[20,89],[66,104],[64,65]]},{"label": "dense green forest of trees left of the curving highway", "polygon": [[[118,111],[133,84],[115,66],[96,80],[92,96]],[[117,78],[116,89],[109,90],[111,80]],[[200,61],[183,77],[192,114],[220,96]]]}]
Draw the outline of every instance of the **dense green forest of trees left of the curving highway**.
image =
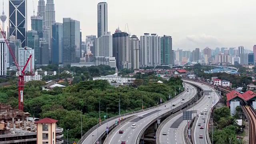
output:
[{"label": "dense green forest of trees left of the curving highway", "polygon": [[[69,129],[68,137],[70,140],[78,140],[81,138],[81,110],[82,130],[85,134],[97,124],[99,103],[100,116],[103,120],[104,115],[106,115],[106,108],[108,108],[108,117],[118,115],[119,95],[121,97],[121,112],[126,113],[141,110],[142,96],[143,106],[148,108],[157,105],[158,96],[160,97],[161,94],[162,102],[165,102],[169,100],[169,94],[174,97],[175,88],[178,94],[179,87],[182,87],[180,78],[170,78],[169,81],[163,80],[154,72],[137,73],[134,75],[136,77],[134,84],[129,86],[114,87],[110,86],[106,80],[90,80],[91,76],[105,75],[113,71],[111,68],[104,70],[97,66],[76,67],[74,68],[74,77],[77,76],[82,79],[85,73],[88,73],[89,76],[85,76],[86,78],[65,88],[56,87],[50,91],[42,90],[41,87],[46,84],[44,81],[27,82],[24,87],[24,111],[36,118],[49,117],[58,120],[57,125],[64,128],[64,135],[66,134],[65,131]],[[157,83],[158,80],[162,80],[164,83]],[[0,102],[18,108],[18,90],[15,84],[0,87]]]}]

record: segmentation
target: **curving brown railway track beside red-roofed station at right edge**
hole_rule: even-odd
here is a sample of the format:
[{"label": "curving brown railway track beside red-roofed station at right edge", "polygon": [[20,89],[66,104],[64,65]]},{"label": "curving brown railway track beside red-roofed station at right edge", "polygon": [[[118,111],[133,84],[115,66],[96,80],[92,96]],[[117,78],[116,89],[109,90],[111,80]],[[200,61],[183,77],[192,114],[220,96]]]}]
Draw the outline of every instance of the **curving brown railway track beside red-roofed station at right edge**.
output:
[{"label": "curving brown railway track beside red-roofed station at right edge", "polygon": [[249,121],[249,144],[256,144],[256,111],[244,100],[241,101],[242,110]]}]

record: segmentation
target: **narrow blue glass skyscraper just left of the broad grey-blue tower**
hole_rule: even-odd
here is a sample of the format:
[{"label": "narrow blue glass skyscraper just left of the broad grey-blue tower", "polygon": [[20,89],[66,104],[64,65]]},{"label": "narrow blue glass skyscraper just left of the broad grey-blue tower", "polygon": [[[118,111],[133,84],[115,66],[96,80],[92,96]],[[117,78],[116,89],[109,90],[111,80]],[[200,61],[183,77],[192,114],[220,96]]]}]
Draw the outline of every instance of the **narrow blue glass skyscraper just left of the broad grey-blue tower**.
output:
[{"label": "narrow blue glass skyscraper just left of the broad grey-blue tower", "polygon": [[63,64],[63,24],[52,24],[52,63]]}]

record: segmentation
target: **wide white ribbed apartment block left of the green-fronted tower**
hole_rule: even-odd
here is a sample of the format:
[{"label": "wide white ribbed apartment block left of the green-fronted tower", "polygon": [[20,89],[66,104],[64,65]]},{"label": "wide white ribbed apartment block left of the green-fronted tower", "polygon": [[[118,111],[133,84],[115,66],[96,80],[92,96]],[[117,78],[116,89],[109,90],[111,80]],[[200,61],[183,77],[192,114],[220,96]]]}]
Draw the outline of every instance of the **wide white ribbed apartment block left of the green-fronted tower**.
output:
[{"label": "wide white ribbed apartment block left of the green-fronted tower", "polygon": [[140,36],[140,66],[161,65],[160,36],[144,33]]}]

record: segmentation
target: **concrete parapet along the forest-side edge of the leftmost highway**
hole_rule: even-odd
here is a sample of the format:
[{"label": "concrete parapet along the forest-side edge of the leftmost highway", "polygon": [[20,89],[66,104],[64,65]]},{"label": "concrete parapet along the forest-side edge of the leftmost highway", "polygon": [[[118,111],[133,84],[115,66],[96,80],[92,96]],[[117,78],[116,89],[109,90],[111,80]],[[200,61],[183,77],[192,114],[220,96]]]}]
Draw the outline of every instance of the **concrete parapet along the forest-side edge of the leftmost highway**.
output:
[{"label": "concrete parapet along the forest-side edge of the leftmost highway", "polygon": [[[185,92],[185,91],[184,91]],[[183,94],[184,92],[180,93],[180,94]],[[177,96],[175,96],[174,98],[177,98],[178,96],[180,96],[180,94],[178,94]],[[174,98],[172,98],[171,100],[173,100]],[[171,100],[168,100],[162,104],[159,104],[159,106],[162,106],[164,104],[167,104],[169,103]],[[151,109],[154,109],[154,108],[157,108],[157,106],[152,106],[150,108],[146,108],[144,109],[143,111],[146,111],[146,110],[151,110]],[[130,114],[136,114],[136,113],[139,113],[139,112],[142,112],[142,110],[137,110],[137,111],[134,111],[134,112],[128,112],[128,113],[125,113],[125,114],[121,114],[121,116],[127,116],[127,115],[130,115]],[[108,121],[112,121],[112,120],[115,120],[116,118],[119,118],[119,115],[118,116],[114,116],[112,118],[108,118]],[[107,120],[104,120],[101,122],[101,124],[106,124],[107,123]],[[84,140],[91,134],[91,132],[93,132],[94,130],[97,129],[97,125],[93,126],[90,130],[88,130],[83,136],[82,138],[78,141],[77,144],[82,144],[82,142],[84,142]]]}]

